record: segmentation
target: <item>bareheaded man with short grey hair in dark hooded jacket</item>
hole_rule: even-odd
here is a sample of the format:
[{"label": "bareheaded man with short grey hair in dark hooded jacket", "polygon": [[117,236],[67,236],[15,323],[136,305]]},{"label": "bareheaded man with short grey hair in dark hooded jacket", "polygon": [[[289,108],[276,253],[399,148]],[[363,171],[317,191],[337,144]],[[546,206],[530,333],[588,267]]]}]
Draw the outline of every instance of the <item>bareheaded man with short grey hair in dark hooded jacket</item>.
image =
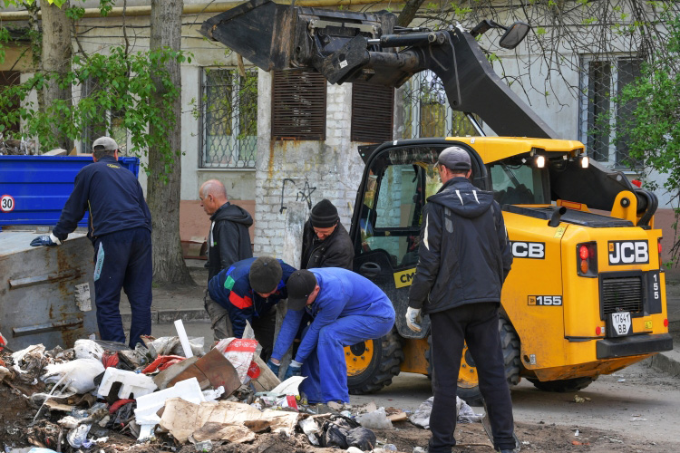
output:
[{"label": "bareheaded man with short grey hair in dark hooded jacket", "polygon": [[[252,258],[248,227],[253,217],[242,207],[232,205],[227,189],[217,179],[209,179],[199,189],[200,206],[210,216],[208,234],[208,281],[222,269],[247,258]],[[205,307],[210,317],[215,340],[233,336],[228,311],[210,298],[206,291]]]}]

